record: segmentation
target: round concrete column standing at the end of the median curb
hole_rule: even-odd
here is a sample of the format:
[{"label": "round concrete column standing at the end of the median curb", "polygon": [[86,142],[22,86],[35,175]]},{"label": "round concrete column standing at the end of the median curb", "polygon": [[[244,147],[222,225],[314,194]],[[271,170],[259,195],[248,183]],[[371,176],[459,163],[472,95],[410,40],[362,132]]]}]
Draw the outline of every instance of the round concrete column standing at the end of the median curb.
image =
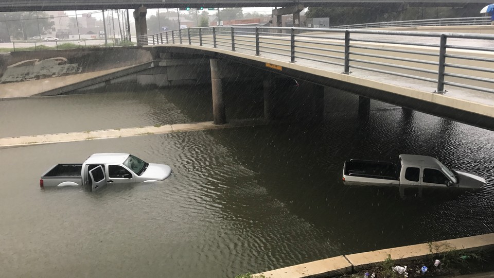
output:
[{"label": "round concrete column standing at the end of the median curb", "polygon": [[219,59],[209,59],[211,67],[211,89],[213,89],[213,118],[215,125],[226,124],[221,63],[222,61]]}]

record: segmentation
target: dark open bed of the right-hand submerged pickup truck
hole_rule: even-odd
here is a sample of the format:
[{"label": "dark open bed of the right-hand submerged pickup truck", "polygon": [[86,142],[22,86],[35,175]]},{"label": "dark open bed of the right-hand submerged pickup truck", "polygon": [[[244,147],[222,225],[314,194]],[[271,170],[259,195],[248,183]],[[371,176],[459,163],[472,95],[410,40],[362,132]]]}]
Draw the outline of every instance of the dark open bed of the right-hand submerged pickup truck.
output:
[{"label": "dark open bed of the right-hand submerged pickup truck", "polygon": [[351,159],[343,166],[343,183],[348,185],[399,185],[399,169],[392,162]]}]

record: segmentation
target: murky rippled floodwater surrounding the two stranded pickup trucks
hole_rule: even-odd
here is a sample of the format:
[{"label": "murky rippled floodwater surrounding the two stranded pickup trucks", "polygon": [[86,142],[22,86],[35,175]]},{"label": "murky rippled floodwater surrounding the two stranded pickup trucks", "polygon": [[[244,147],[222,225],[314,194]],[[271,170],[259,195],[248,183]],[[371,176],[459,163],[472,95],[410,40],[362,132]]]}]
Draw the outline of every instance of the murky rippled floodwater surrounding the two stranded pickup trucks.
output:
[{"label": "murky rippled floodwater surrounding the two stranded pickup trucks", "polygon": [[[243,88],[243,87],[242,87]],[[255,88],[227,117],[261,117]],[[303,98],[304,92],[296,92]],[[327,90],[319,125],[225,130],[0,149],[0,265],[13,277],[233,277],[342,254],[494,232],[494,132]],[[0,136],[212,120],[210,89],[171,88],[0,101]],[[40,189],[51,165],[95,152],[166,163],[154,184]],[[479,192],[348,187],[350,158],[437,157],[487,179]]]}]

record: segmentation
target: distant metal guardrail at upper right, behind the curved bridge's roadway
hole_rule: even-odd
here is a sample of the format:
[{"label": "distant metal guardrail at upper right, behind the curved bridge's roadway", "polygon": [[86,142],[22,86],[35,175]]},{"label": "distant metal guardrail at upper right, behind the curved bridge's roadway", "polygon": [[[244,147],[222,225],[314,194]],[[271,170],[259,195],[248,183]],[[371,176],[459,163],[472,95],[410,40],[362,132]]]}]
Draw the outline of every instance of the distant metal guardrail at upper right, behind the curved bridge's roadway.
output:
[{"label": "distant metal guardrail at upper right, behind the curved bridge's roadway", "polygon": [[362,23],[351,25],[339,25],[329,28],[337,29],[361,29],[361,28],[385,28],[385,27],[415,27],[415,26],[463,26],[463,25],[490,25],[490,16],[479,16],[476,18],[451,18],[451,19],[428,19],[389,21],[376,23]]}]

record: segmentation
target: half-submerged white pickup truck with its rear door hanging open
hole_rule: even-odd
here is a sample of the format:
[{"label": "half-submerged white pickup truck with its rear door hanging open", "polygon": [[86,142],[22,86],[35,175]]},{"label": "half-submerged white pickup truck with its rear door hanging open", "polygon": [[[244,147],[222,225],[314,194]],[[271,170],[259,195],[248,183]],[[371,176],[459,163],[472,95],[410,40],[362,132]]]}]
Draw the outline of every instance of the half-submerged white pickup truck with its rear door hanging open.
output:
[{"label": "half-submerged white pickup truck with its rear door hanging open", "polygon": [[155,182],[168,178],[171,168],[147,163],[129,153],[95,153],[82,164],[57,164],[40,179],[40,187],[82,185],[96,191],[107,183]]}]

